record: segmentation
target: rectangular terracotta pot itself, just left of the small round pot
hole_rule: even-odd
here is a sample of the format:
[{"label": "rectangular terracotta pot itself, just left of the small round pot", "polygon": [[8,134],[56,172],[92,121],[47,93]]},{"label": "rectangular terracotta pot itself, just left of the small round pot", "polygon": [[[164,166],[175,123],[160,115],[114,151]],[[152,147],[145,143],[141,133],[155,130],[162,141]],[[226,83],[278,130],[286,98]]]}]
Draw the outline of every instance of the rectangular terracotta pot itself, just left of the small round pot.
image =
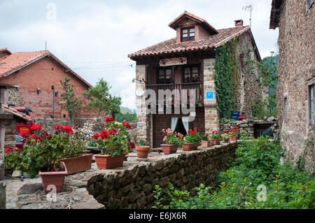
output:
[{"label": "rectangular terracotta pot itself, just left of the small round pot", "polygon": [[125,154],[120,154],[119,156],[111,157],[111,155],[97,155],[94,154],[95,161],[97,163],[97,168],[108,169],[123,166],[125,160]]}]

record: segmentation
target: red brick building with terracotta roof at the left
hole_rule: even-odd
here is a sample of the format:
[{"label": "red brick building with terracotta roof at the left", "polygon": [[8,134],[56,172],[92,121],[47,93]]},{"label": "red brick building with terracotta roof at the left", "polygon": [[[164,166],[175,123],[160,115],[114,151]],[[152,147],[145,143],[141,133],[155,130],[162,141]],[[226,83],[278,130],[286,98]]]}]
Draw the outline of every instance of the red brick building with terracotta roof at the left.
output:
[{"label": "red brick building with terracotta roof at the left", "polygon": [[[83,99],[82,93],[92,85],[48,50],[10,52],[7,48],[0,48],[0,83],[8,86],[2,89],[1,97],[6,104],[28,106],[33,110],[32,117],[68,117],[62,103],[60,83],[65,75],[71,79],[75,95]],[[55,87],[55,99],[52,86]],[[87,99],[83,99],[83,110],[78,117],[94,116],[84,108],[87,103]]]}]

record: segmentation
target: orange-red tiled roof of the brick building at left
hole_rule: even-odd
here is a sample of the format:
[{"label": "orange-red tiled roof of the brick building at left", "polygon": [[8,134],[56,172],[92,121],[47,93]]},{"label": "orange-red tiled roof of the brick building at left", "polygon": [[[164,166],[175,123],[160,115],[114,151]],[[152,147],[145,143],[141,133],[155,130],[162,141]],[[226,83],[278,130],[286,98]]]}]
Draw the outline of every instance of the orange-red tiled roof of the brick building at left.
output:
[{"label": "orange-red tiled roof of the brick building at left", "polygon": [[54,58],[55,60],[57,60],[57,62],[59,62],[66,69],[71,71],[71,73],[73,73],[73,75],[75,75],[77,78],[85,82],[86,85],[88,85],[89,87],[92,87],[90,83],[88,83],[83,78],[81,78],[80,75],[72,71],[68,66],[66,66],[66,64],[62,63],[55,55],[53,55],[48,50],[35,51],[35,52],[13,52],[11,55],[1,57],[0,58],[0,78],[3,78],[6,75],[10,75],[11,73],[18,71],[19,69],[22,69],[24,66],[27,66],[31,64],[32,62],[36,62],[38,59],[41,59],[43,57],[47,57],[48,55]]}]

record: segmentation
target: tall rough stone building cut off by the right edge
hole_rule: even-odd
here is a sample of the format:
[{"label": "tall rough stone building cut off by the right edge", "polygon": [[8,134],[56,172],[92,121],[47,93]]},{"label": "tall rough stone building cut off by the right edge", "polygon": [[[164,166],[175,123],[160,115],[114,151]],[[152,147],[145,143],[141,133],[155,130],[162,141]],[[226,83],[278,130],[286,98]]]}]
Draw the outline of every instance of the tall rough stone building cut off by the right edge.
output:
[{"label": "tall rough stone building cut off by the right edge", "polygon": [[[291,161],[314,161],[314,1],[272,0],[270,29],[279,28],[277,106],[281,144]],[[305,152],[307,153],[304,156]]]}]

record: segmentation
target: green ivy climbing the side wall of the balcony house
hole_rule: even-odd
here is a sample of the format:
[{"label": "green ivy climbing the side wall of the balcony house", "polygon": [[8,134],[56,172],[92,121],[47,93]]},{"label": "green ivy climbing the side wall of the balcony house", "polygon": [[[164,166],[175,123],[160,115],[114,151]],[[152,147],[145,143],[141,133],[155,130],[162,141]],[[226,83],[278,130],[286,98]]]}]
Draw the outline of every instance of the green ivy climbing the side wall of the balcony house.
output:
[{"label": "green ivy climbing the side wall of the balcony house", "polygon": [[216,49],[214,84],[216,89],[216,109],[220,120],[230,119],[237,104],[238,62],[235,42],[237,37]]}]

